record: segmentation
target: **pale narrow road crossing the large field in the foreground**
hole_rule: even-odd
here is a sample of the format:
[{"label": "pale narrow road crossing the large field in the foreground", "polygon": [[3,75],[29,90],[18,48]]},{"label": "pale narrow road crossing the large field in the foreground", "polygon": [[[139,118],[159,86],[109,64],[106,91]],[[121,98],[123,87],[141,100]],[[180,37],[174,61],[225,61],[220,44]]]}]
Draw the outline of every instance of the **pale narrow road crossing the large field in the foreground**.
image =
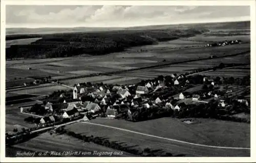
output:
[{"label": "pale narrow road crossing the large field in the foreground", "polygon": [[221,146],[209,146],[209,145],[203,145],[203,144],[189,143],[189,142],[185,142],[185,141],[169,139],[169,138],[164,138],[164,137],[158,137],[158,136],[152,135],[152,134],[146,134],[146,133],[142,133],[142,132],[132,131],[132,130],[113,127],[113,126],[108,126],[108,125],[102,125],[102,124],[91,123],[91,122],[81,122],[81,123],[87,123],[87,124],[92,124],[92,125],[97,125],[97,126],[109,127],[109,128],[113,128],[113,129],[118,129],[118,130],[122,130],[122,131],[127,131],[127,132],[132,132],[132,133],[145,135],[147,137],[154,137],[154,138],[158,138],[158,139],[163,139],[163,140],[172,141],[172,142],[178,142],[178,143],[181,143],[181,144],[187,144],[187,145],[192,145],[192,146],[200,146],[200,147],[216,148],[216,149],[220,148],[220,149],[250,150],[250,148],[242,148],[242,147],[221,147]]}]

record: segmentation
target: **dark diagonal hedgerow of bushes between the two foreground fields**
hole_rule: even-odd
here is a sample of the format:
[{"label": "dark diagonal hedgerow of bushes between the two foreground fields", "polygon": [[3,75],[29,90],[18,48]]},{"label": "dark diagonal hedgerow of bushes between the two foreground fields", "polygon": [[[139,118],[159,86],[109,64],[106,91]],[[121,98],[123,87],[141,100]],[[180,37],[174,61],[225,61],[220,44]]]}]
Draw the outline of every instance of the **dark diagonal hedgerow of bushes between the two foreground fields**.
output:
[{"label": "dark diagonal hedgerow of bushes between the two foreground fields", "polygon": [[59,127],[56,129],[56,132],[59,134],[67,134],[71,137],[77,138],[79,140],[83,140],[84,142],[93,142],[95,144],[99,144],[105,147],[113,148],[116,150],[124,151],[127,153],[132,153],[139,156],[147,156],[147,157],[153,157],[153,156],[173,156],[172,153],[166,153],[161,149],[152,150],[150,148],[145,148],[144,150],[138,150],[133,148],[133,146],[127,146],[124,142],[117,142],[117,141],[110,141],[109,139],[102,138],[102,137],[94,137],[93,135],[87,136],[82,135],[81,133],[75,133],[73,131],[67,131],[63,127]]}]

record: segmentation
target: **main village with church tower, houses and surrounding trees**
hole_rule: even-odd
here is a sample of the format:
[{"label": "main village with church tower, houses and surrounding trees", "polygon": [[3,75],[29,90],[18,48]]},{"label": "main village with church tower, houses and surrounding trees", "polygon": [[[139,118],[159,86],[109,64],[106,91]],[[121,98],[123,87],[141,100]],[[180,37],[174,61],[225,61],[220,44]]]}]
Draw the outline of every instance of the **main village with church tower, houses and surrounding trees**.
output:
[{"label": "main village with church tower, houses and surrounding trees", "polygon": [[244,97],[249,85],[249,76],[234,79],[185,74],[160,75],[137,85],[78,83],[73,90],[54,92],[43,104],[20,107],[20,112],[32,115],[25,121],[40,127],[96,117],[133,122],[165,116],[230,120],[231,115],[250,112],[250,101]]}]

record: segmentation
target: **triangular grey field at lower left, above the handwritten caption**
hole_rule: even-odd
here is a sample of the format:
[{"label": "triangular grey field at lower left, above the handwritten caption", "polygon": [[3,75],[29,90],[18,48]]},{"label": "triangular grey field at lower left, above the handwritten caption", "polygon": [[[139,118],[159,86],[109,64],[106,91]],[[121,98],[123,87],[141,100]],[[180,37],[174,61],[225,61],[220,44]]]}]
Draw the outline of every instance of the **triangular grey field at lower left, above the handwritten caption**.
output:
[{"label": "triangular grey field at lower left, above the handwritten caption", "polygon": [[[33,138],[27,142],[20,143],[17,145],[13,146],[14,148],[19,148],[23,149],[24,151],[26,150],[31,150],[31,151],[56,151],[56,152],[63,152],[63,151],[87,151],[87,152],[92,152],[92,151],[114,151],[118,152],[118,150],[113,150],[111,148],[107,148],[104,146],[100,146],[97,144],[93,143],[86,143],[82,142],[78,139],[69,137],[68,135],[57,135],[57,134],[52,134],[50,135],[49,132],[43,133],[39,135],[36,138]],[[119,151],[120,152],[120,151]],[[48,155],[51,156],[51,155]],[[54,155],[52,155],[54,156]],[[66,157],[70,157],[72,155],[63,155]],[[73,155],[74,156],[74,155]],[[76,156],[94,156],[97,157],[98,155],[76,155]],[[105,155],[108,156],[108,155]],[[123,152],[122,155],[112,155],[112,156],[135,156],[130,153]]]}]

